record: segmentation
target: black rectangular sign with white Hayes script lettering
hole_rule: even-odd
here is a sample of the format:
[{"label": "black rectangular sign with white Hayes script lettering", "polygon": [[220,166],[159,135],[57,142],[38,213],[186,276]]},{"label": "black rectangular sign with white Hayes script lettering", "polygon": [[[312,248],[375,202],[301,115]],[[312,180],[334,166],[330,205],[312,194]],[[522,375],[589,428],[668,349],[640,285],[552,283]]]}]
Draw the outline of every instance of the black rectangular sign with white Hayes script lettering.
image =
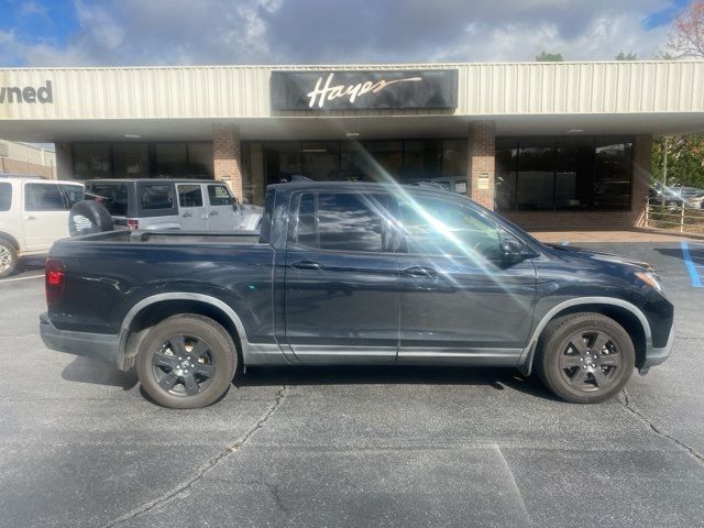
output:
[{"label": "black rectangular sign with white Hayes script lettering", "polygon": [[452,109],[457,69],[272,72],[273,110]]}]

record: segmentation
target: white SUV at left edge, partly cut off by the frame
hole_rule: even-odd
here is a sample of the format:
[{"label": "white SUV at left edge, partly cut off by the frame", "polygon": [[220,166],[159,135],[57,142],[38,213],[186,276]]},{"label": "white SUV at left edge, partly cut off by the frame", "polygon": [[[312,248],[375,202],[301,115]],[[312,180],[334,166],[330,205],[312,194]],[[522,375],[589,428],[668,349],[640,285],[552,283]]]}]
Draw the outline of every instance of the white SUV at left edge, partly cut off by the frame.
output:
[{"label": "white SUV at left edge, partly cut off by the frame", "polygon": [[82,184],[0,174],[0,277],[68,237],[68,211],[82,199]]}]

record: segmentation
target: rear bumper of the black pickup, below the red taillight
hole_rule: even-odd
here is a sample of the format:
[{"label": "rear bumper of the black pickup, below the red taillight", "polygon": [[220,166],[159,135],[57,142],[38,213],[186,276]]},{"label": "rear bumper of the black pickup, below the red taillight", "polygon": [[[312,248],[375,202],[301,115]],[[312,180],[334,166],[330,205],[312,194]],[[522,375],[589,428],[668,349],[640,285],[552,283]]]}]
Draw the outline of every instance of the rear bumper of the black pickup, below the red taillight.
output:
[{"label": "rear bumper of the black pickup, below the red taillight", "polygon": [[59,330],[52,324],[46,314],[40,316],[40,334],[46,348],[57,352],[112,362],[118,359],[119,336]]}]

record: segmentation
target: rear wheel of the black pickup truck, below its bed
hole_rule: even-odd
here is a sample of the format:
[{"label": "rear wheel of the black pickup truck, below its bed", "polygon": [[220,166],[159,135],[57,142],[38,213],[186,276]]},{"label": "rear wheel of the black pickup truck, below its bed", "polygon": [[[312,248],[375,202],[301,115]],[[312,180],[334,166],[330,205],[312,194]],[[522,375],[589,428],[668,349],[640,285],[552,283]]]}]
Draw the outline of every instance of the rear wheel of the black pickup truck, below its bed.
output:
[{"label": "rear wheel of the black pickup truck, below its bed", "polygon": [[153,327],[136,359],[146,394],[173,409],[196,409],[220,399],[237,366],[238,353],[228,331],[197,315],[173,316]]}]

